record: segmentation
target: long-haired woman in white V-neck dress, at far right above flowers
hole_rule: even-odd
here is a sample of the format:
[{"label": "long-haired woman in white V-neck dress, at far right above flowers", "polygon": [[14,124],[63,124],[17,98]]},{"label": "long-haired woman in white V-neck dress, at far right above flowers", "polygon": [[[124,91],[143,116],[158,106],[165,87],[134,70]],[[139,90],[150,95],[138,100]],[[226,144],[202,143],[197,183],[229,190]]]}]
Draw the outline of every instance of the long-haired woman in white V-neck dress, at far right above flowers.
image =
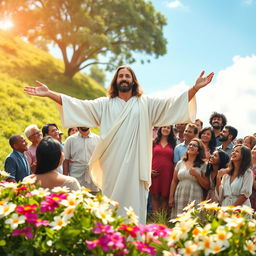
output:
[{"label": "long-haired woman in white V-neck dress, at far right above flowers", "polygon": [[249,197],[252,194],[253,173],[251,150],[241,144],[236,145],[226,170],[219,171],[216,183],[216,197],[221,206],[251,206]]}]

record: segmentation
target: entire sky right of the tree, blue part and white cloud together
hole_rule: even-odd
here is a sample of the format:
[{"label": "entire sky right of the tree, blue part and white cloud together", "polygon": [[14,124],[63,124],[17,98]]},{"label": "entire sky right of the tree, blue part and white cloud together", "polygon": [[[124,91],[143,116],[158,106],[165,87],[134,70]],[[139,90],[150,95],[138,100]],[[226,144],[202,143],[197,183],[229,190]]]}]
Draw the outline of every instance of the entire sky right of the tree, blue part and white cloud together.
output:
[{"label": "entire sky right of the tree, blue part and white cloud together", "polygon": [[167,17],[168,53],[132,65],[145,93],[170,95],[194,84],[201,70],[213,82],[197,94],[197,117],[209,125],[224,113],[238,137],[256,132],[256,0],[154,0]]}]

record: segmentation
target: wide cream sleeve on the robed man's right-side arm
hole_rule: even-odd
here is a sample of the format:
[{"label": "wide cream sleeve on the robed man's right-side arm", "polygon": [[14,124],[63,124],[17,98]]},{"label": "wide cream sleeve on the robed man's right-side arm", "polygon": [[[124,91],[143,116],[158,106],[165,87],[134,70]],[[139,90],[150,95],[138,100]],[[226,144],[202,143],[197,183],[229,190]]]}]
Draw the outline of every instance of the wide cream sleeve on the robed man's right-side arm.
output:
[{"label": "wide cream sleeve on the robed man's right-side arm", "polygon": [[194,122],[196,118],[196,99],[188,101],[188,92],[180,96],[150,98],[149,115],[153,126]]}]

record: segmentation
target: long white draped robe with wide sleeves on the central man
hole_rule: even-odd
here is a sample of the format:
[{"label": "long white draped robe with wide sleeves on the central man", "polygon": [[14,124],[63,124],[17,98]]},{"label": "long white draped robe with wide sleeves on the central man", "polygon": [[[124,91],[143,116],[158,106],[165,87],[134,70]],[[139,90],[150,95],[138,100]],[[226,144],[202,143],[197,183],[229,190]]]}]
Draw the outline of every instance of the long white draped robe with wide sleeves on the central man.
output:
[{"label": "long white draped robe with wide sleeves on the central man", "polygon": [[132,206],[139,222],[146,222],[151,183],[152,127],[193,122],[196,102],[188,93],[176,98],[119,97],[78,100],[62,95],[64,127],[101,127],[101,142],[91,161],[91,175],[103,194],[123,207]]}]

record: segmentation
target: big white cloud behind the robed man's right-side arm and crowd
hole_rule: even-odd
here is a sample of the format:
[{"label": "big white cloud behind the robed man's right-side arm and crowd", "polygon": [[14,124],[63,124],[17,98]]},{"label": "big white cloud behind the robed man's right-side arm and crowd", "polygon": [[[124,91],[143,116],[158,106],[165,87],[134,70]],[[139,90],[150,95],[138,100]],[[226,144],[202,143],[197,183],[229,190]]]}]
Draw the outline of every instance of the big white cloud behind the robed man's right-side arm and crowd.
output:
[{"label": "big white cloud behind the robed man's right-side arm and crowd", "polygon": [[[158,95],[189,87],[181,82]],[[215,74],[213,82],[198,92],[197,117],[204,121],[204,126],[209,126],[211,113],[217,111],[225,114],[228,124],[238,129],[238,137],[251,135],[256,132],[255,99],[256,55],[235,56],[231,66]]]}]

